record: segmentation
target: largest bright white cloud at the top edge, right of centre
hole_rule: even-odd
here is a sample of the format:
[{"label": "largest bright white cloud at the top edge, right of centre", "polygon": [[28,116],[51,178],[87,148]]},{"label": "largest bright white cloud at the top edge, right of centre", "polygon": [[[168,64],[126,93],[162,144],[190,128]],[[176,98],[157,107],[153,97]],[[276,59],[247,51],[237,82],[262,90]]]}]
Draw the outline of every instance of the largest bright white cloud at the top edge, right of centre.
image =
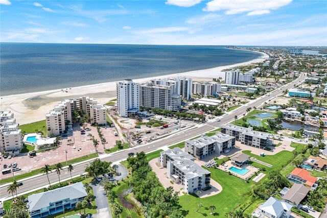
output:
[{"label": "largest bright white cloud at the top edge, right of centre", "polygon": [[225,10],[225,14],[239,14],[248,12],[248,16],[270,13],[290,4],[292,0],[213,0],[206,3],[204,11]]}]

